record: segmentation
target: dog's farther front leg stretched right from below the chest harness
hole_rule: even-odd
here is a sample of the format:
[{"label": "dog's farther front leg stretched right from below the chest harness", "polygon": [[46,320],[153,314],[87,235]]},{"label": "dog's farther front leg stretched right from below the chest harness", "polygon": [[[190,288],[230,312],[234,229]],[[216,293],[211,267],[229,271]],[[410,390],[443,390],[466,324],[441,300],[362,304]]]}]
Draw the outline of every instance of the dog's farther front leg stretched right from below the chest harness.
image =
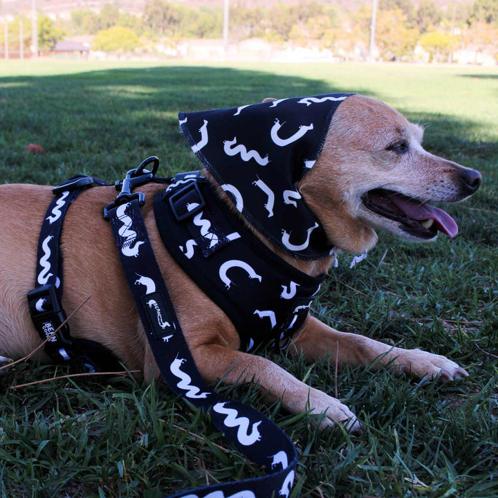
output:
[{"label": "dog's farther front leg stretched right from below the chest harness", "polygon": [[308,361],[330,356],[331,362],[338,357],[340,365],[373,365],[376,368],[387,365],[416,377],[439,375],[444,380],[455,380],[468,376],[457,363],[445,356],[421,349],[392,347],[363,335],[336,331],[311,316],[295,335],[289,349],[302,353]]}]

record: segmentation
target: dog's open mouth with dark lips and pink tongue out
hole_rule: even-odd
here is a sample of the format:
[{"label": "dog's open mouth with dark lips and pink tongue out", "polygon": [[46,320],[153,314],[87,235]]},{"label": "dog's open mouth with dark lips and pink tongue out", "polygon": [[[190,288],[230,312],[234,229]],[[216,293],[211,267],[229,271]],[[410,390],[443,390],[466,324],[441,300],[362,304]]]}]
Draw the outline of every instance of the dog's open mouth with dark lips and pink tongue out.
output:
[{"label": "dog's open mouth with dark lips and pink tongue out", "polygon": [[370,190],[362,196],[366,208],[400,223],[405,232],[420,239],[433,239],[441,231],[452,239],[458,225],[445,211],[418,199],[411,199],[391,190]]}]

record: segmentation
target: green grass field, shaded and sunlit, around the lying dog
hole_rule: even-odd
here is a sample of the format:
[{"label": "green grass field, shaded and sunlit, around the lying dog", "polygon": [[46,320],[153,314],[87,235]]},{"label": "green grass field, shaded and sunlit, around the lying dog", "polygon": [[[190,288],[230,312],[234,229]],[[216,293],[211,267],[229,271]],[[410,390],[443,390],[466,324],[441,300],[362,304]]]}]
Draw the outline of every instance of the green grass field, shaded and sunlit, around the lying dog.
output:
[{"label": "green grass field, shaded and sunlit, around the lying dog", "polygon": [[[86,173],[113,182],[151,154],[159,156],[163,176],[196,169],[178,133],[177,111],[330,91],[365,93],[430,124],[426,147],[479,169],[484,183],[470,201],[447,208],[459,223],[457,239],[410,246],[382,234],[353,270],[342,258],[313,312],[343,331],[450,356],[468,367],[470,378],[441,385],[385,370],[340,370],[339,396],[365,422],[365,434],[356,439],[340,430],[319,433],[311,416],[265,405],[254,385],[219,389],[259,407],[295,441],[293,497],[495,497],[495,69],[0,62],[0,181],[53,184]],[[46,153],[26,154],[28,143]],[[13,221],[1,223],[7,222]],[[333,396],[329,362],[310,368],[266,354]],[[220,450],[216,445],[227,447],[223,436],[165,385],[80,378],[10,390],[60,371],[26,363],[0,381],[2,497],[156,498],[261,472],[237,452]]]}]

